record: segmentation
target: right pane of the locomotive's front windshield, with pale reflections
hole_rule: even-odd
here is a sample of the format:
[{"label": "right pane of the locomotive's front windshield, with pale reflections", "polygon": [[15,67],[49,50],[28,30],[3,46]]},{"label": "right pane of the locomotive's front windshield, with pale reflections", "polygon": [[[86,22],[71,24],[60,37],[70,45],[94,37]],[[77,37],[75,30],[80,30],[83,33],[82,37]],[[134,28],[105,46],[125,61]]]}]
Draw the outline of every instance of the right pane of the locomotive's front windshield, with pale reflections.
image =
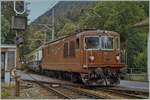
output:
[{"label": "right pane of the locomotive's front windshield, with pale reflections", "polygon": [[102,49],[113,49],[113,37],[102,36],[101,47]]}]

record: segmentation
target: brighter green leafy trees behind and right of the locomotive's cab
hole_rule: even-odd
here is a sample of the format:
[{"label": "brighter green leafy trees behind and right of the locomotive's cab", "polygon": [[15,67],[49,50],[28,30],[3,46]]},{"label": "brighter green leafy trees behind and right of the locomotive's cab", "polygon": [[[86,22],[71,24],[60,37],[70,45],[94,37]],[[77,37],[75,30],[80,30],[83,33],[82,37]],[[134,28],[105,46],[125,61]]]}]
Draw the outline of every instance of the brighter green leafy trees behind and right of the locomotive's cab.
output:
[{"label": "brighter green leafy trees behind and right of the locomotive's cab", "polygon": [[[99,2],[93,8],[92,14],[91,11],[87,11],[80,17],[79,25],[80,27],[94,27],[120,33],[121,47],[127,50],[128,66],[132,67],[137,63],[135,58],[141,61],[146,59],[147,33],[133,28],[133,25],[147,16],[148,9],[145,7],[147,3],[142,5],[141,2],[135,1]],[[147,63],[144,62],[142,65],[147,66]]]}]

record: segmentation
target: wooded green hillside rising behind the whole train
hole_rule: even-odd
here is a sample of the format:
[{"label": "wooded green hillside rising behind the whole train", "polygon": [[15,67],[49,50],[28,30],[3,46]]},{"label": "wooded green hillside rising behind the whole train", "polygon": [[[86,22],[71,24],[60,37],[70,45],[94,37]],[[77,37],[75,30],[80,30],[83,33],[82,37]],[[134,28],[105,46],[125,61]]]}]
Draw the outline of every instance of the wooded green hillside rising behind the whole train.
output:
[{"label": "wooded green hillside rising behind the whole train", "polygon": [[[3,15],[6,13],[7,16],[13,15],[8,13],[12,12],[11,9],[3,10]],[[121,48],[127,51],[128,66],[147,68],[148,28],[137,28],[134,25],[149,17],[148,1],[61,1],[56,4],[54,10],[55,39],[71,34],[80,28],[116,31],[121,36]],[[45,27],[35,26],[35,24],[51,24],[51,18],[52,9],[28,26],[27,31],[24,32],[24,54],[42,45],[45,34],[46,40],[51,41],[51,30],[42,31]],[[2,17],[2,43],[13,43],[9,41],[15,36],[14,32],[8,30],[9,23],[9,17]]]}]

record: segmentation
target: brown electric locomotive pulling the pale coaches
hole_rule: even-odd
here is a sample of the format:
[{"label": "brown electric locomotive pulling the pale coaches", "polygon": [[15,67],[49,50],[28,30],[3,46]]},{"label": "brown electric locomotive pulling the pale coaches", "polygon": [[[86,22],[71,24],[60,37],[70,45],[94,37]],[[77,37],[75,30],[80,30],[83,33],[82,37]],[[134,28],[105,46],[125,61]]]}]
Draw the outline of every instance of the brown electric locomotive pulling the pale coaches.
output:
[{"label": "brown electric locomotive pulling the pale coaches", "polygon": [[120,82],[120,36],[113,31],[84,30],[43,46],[42,70],[49,76],[85,84]]}]

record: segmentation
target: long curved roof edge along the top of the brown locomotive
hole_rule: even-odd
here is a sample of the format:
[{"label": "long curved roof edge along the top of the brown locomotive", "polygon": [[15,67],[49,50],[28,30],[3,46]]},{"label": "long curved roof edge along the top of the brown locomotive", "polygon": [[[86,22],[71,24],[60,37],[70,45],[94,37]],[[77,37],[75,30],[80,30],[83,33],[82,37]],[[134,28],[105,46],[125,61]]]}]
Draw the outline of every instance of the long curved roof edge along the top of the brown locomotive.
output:
[{"label": "long curved roof edge along the top of the brown locomotive", "polygon": [[86,33],[91,33],[91,35],[93,33],[97,33],[97,34],[100,34],[100,35],[109,35],[109,36],[118,36],[119,35],[117,32],[114,32],[114,31],[106,31],[106,30],[99,30],[99,29],[80,29],[80,30],[75,31],[71,35],[63,36],[63,37],[58,38],[58,39],[56,39],[54,41],[48,41],[44,45],[48,45],[50,43],[54,43],[56,41],[62,40],[64,38],[67,38],[67,37],[70,37],[70,36],[73,36],[73,35],[77,35],[77,34],[81,35],[81,34],[86,34]]}]

